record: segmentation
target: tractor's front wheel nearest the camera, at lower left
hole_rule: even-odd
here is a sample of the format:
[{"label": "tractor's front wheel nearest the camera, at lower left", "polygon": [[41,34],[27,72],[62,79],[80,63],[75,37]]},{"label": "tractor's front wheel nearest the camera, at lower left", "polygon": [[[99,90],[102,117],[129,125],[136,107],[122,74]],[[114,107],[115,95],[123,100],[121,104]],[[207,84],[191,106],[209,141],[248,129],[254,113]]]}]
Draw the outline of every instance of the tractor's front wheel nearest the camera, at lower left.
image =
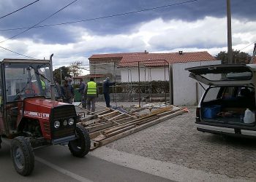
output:
[{"label": "tractor's front wheel nearest the camera, at lower left", "polygon": [[11,143],[11,157],[15,170],[20,175],[29,175],[34,170],[34,152],[24,137],[16,137]]}]

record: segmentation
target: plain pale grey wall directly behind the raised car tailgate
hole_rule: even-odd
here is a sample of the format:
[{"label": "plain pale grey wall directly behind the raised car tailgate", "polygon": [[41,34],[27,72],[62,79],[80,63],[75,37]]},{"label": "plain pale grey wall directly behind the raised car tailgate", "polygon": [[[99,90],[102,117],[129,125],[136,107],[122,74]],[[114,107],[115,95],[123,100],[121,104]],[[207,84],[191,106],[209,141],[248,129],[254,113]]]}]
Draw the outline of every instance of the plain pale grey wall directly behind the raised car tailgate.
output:
[{"label": "plain pale grey wall directly behind the raised car tailgate", "polygon": [[[189,78],[189,71],[185,71],[185,68],[220,63],[221,61],[217,60],[173,64],[173,104],[177,106],[196,105],[196,98],[198,98],[199,101],[203,95],[203,88],[200,84],[197,84],[195,79]],[[196,94],[196,87],[198,95]],[[204,87],[207,88],[208,86],[204,85]]]}]

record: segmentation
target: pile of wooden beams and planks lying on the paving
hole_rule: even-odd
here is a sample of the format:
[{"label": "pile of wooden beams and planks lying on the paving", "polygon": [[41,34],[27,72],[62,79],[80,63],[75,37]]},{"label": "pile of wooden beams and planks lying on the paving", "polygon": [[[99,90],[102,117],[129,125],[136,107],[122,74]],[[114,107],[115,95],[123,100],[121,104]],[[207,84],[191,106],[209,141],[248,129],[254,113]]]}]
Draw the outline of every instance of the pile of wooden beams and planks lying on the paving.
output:
[{"label": "pile of wooden beams and planks lying on the paving", "polygon": [[173,106],[167,106],[138,115],[143,109],[145,108],[122,113],[106,108],[95,112],[92,116],[81,118],[80,123],[89,130],[91,150],[187,112],[186,108],[173,109]]}]

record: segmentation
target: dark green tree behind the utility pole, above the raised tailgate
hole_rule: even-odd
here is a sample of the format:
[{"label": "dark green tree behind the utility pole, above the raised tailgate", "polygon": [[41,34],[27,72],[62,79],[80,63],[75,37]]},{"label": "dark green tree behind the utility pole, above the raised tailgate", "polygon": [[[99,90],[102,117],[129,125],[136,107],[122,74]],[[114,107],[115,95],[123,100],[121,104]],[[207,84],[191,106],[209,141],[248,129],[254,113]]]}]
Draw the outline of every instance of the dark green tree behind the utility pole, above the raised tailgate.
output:
[{"label": "dark green tree behind the utility pole, above the raised tailgate", "polygon": [[[240,52],[240,50],[232,50],[233,60],[235,60],[235,63],[244,63],[248,64],[251,60],[252,56],[250,56],[246,52]],[[221,51],[216,56],[217,60],[222,60],[222,64],[227,64],[227,52]]]}]

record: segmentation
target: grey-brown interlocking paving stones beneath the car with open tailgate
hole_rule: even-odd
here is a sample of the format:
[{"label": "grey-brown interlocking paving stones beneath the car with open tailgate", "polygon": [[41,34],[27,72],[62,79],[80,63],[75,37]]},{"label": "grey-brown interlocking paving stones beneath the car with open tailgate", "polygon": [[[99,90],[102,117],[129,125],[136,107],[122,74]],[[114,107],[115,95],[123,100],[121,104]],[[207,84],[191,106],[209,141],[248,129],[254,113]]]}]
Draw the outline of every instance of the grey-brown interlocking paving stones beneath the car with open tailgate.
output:
[{"label": "grey-brown interlocking paving stones beneath the car with open tailgate", "polygon": [[256,181],[256,140],[198,132],[195,107],[107,147],[195,170]]}]

